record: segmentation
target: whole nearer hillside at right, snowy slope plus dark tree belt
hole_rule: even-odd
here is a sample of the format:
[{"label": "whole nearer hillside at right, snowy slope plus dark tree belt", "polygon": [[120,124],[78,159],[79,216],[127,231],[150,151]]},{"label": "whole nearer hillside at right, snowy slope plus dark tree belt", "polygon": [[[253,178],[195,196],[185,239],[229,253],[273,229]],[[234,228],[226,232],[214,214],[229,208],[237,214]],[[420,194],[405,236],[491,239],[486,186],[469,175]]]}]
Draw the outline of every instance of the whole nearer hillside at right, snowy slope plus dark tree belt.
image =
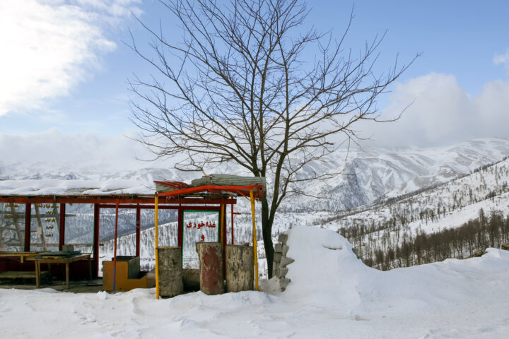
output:
[{"label": "whole nearer hillside at right, snowy slope plus dark tree belt", "polygon": [[390,269],[509,242],[509,159],[328,220],[371,266]]}]

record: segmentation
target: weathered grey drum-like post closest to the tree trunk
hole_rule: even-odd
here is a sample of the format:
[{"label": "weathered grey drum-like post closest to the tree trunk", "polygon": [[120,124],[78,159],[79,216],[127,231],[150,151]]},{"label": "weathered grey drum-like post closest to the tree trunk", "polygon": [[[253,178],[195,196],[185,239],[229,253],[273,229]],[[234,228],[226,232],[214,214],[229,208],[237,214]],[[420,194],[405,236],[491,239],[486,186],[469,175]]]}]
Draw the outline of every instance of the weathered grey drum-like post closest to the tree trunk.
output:
[{"label": "weathered grey drum-like post closest to the tree trunk", "polygon": [[226,245],[226,292],[253,290],[252,246]]}]

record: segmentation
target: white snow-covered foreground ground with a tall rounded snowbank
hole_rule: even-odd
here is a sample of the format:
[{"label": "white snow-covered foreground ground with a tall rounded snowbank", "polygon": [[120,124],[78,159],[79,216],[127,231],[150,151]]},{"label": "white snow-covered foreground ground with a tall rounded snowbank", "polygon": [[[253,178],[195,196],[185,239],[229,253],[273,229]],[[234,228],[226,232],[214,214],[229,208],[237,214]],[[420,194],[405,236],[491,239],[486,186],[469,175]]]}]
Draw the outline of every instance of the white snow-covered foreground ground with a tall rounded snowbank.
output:
[{"label": "white snow-covered foreground ground with a tall rounded snowbank", "polygon": [[[288,231],[286,292],[155,299],[0,290],[0,338],[507,338],[509,251],[386,272],[336,232]],[[271,285],[267,281],[262,286]]]}]

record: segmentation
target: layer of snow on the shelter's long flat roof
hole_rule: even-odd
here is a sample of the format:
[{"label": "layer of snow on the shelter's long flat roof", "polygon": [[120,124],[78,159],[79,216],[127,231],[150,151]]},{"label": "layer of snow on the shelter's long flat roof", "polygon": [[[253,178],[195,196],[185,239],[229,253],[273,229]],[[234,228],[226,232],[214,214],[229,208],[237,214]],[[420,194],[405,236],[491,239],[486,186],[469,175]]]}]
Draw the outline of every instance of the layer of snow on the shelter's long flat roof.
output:
[{"label": "layer of snow on the shelter's long flat roof", "polygon": [[30,179],[0,180],[1,196],[115,196],[153,195],[153,182],[131,179],[61,180]]}]

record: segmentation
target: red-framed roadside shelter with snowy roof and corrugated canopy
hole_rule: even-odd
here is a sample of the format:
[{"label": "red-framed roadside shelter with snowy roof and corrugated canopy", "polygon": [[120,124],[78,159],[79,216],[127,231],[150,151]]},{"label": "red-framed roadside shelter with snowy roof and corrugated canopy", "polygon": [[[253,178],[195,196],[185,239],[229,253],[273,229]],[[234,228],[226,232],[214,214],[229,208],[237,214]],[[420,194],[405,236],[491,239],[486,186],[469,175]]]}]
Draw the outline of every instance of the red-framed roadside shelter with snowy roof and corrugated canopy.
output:
[{"label": "red-framed roadside shelter with snowy roof and corrugated canopy", "polygon": [[[228,177],[228,178],[226,178]],[[186,210],[214,211],[221,220],[220,241],[226,244],[226,218],[230,212],[233,243],[233,206],[238,196],[248,198],[252,206],[256,198],[262,198],[264,178],[256,182],[246,182],[235,176],[208,176],[192,184],[180,182],[155,182],[158,191],[154,194],[153,185],[136,180],[114,179],[93,180],[4,180],[0,181],[0,273],[34,271],[30,257],[35,251],[52,246],[54,251],[66,249],[66,232],[69,232],[69,218],[66,207],[69,204],[90,204],[93,206],[93,233],[90,243],[75,244],[91,247],[91,273],[98,277],[100,272],[100,211],[105,208],[130,209],[136,215],[136,252],[140,255],[141,210],[177,210],[177,246],[182,246],[183,215]],[[228,179],[225,182],[224,179]],[[201,181],[200,181],[201,180]],[[230,208],[226,208],[230,206]],[[229,210],[229,211],[228,211]],[[254,222],[254,210],[252,214]],[[118,218],[116,218],[116,221]],[[2,223],[3,222],[3,223]],[[156,232],[158,220],[155,220]],[[117,244],[115,227],[115,248]],[[51,234],[47,237],[48,234]],[[45,237],[47,237],[45,239]],[[256,239],[254,237],[254,242]],[[255,245],[255,243],[254,243]],[[157,248],[157,237],[156,237]],[[256,248],[256,247],[255,247]],[[256,251],[254,251],[256,253]],[[156,251],[157,255],[157,251]],[[116,256],[116,249],[115,249]],[[156,261],[157,262],[157,261]],[[83,279],[89,274],[86,258],[72,263],[71,279]],[[53,275],[63,275],[63,268],[57,265],[43,265]],[[46,267],[47,266],[47,267]],[[67,272],[69,275],[69,272]]]}]

